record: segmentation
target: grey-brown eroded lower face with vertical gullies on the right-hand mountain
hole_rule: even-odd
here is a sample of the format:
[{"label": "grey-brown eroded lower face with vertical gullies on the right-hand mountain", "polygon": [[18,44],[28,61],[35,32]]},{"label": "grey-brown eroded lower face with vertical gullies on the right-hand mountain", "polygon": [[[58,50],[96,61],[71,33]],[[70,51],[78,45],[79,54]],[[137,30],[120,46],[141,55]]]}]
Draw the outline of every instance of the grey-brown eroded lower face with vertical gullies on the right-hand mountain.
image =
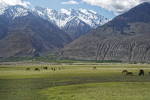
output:
[{"label": "grey-brown eroded lower face with vertical gullies on the right-hand mountain", "polygon": [[66,47],[64,56],[85,60],[150,62],[150,37],[131,36],[88,40],[88,43],[86,42],[84,46],[80,43],[75,43],[73,46]]}]

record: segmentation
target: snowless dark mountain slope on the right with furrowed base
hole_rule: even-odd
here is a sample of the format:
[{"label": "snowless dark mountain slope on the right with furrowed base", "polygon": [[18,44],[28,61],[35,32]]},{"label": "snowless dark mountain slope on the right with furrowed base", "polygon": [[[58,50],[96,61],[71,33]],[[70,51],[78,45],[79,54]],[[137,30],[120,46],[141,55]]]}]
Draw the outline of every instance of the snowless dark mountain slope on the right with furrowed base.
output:
[{"label": "snowless dark mountain slope on the right with furrowed base", "polygon": [[67,58],[150,62],[150,3],[117,16],[67,45]]}]

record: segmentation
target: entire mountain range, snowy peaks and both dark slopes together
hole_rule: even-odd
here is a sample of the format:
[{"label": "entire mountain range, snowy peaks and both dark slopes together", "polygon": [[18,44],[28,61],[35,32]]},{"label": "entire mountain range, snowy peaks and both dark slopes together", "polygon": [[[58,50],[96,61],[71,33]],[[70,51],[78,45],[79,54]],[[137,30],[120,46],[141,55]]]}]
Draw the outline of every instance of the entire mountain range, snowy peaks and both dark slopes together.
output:
[{"label": "entire mountain range, snowy peaks and both dark slopes together", "polygon": [[0,57],[59,50],[67,59],[150,62],[150,3],[110,21],[86,9],[0,5]]}]

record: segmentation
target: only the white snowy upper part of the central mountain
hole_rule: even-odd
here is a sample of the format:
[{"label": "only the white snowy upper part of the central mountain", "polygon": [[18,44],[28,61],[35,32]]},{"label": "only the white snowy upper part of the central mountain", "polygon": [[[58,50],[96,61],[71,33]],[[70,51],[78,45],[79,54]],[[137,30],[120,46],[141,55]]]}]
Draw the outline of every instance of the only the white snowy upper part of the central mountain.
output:
[{"label": "only the white snowy upper part of the central mountain", "polygon": [[60,9],[59,11],[56,11],[49,8],[36,7],[34,12],[55,23],[60,28],[63,28],[66,23],[71,21],[74,17],[78,17],[81,21],[91,26],[91,28],[96,28],[108,22],[108,19],[104,16],[99,15],[95,11],[86,9]]}]

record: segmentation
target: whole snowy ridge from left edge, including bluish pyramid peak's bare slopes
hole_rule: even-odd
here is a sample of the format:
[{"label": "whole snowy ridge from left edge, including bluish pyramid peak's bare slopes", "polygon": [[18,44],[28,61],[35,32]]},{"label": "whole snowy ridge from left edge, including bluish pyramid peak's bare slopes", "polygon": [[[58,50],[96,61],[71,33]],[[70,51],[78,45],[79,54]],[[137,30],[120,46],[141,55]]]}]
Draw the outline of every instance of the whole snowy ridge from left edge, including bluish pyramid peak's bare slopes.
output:
[{"label": "whole snowy ridge from left edge, including bluish pyramid peak's bare slopes", "polygon": [[9,6],[4,3],[0,3],[0,5],[2,5],[0,7],[0,15],[15,19],[17,17],[34,14],[53,23],[70,35],[73,40],[86,34],[91,29],[97,28],[109,21],[95,11],[86,9],[60,9],[59,11],[56,11],[42,7],[27,8],[20,5]]}]

